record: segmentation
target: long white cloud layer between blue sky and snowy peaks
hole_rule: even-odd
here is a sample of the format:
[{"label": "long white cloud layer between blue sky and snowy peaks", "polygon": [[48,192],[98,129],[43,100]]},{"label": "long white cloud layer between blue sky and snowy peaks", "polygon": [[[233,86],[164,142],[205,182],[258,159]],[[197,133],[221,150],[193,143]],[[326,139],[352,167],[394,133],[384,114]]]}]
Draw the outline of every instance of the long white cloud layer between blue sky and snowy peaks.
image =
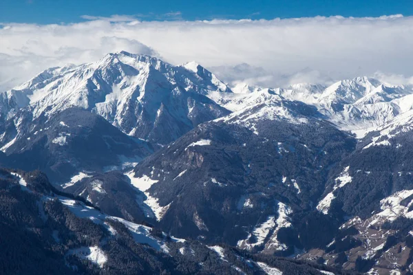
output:
[{"label": "long white cloud layer between blue sky and snowy peaks", "polygon": [[361,75],[401,83],[411,82],[413,75],[413,17],[151,22],[125,15],[83,18],[90,21],[0,24],[0,89],[47,67],[89,63],[120,50],[172,64],[197,61],[227,82],[246,80],[268,87]]}]

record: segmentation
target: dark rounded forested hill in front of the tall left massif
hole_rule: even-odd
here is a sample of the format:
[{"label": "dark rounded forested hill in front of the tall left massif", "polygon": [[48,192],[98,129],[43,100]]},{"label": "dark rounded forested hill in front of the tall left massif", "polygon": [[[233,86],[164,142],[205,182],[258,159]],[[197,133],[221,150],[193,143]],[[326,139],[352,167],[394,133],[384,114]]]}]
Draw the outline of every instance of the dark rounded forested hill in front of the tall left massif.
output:
[{"label": "dark rounded forested hill in front of the tall left massif", "polygon": [[29,129],[7,148],[8,165],[43,170],[54,182],[64,183],[83,170],[122,168],[127,160],[137,162],[153,151],[147,142],[78,108],[66,109],[50,120],[34,120]]}]

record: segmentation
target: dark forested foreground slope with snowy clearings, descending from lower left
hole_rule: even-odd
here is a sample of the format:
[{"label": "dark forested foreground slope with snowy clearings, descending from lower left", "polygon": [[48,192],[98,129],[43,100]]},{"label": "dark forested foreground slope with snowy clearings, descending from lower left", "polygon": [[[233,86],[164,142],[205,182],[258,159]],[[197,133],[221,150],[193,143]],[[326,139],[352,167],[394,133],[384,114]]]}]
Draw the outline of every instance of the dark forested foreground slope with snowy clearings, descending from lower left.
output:
[{"label": "dark forested foreground slope with snowy clearings, descending from lower left", "polygon": [[2,274],[319,275],[326,269],[167,236],[59,192],[39,172],[0,169],[0,194]]}]

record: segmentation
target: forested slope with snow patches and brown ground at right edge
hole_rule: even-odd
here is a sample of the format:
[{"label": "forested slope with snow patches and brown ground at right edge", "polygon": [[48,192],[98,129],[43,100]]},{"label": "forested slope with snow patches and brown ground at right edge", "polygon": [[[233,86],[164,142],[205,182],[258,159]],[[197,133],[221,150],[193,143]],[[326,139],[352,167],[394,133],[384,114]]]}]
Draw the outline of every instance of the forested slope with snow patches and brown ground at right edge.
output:
[{"label": "forested slope with snow patches and brown ground at right edge", "polygon": [[339,219],[340,230],[326,248],[301,259],[316,253],[345,269],[410,274],[413,120],[411,111],[401,116],[366,135],[330,173],[317,210]]}]

